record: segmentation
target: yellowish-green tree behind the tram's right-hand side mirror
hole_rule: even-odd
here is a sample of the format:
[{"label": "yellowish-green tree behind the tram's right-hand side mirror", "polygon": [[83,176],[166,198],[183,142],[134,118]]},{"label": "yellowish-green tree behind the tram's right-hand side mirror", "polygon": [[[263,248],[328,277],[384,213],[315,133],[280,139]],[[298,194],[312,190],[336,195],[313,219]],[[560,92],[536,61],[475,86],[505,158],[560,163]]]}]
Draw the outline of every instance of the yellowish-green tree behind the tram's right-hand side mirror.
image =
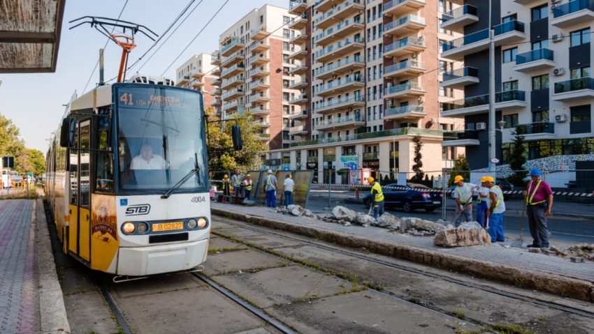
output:
[{"label": "yellowish-green tree behind the tram's right-hand side mirror", "polygon": [[[215,115],[214,109],[209,108],[205,113],[209,121],[219,121],[219,116]],[[250,112],[233,114],[231,119],[236,119],[238,126],[241,127],[243,149],[241,151],[233,149],[231,126],[235,125],[236,121],[208,124],[208,168],[213,172],[233,169],[245,172],[249,169],[259,169],[262,163],[261,153],[267,149],[266,143],[258,137],[260,126],[254,122]]]}]

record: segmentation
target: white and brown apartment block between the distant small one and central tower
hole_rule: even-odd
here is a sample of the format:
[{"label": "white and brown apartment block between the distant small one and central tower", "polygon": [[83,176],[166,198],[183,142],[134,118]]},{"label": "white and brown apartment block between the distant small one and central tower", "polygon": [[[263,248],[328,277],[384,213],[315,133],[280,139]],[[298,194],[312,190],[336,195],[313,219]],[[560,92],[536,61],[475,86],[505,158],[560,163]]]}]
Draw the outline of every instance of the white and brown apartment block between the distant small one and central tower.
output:
[{"label": "white and brown apartment block between the distant small one and central tower", "polygon": [[300,112],[298,105],[291,105],[299,96],[294,81],[300,81],[290,73],[292,36],[287,24],[293,18],[287,8],[268,4],[249,11],[219,36],[219,53],[212,60],[220,70],[216,83],[222,95],[215,105],[221,106],[222,116],[249,110],[260,125],[259,138],[272,150],[289,147],[296,139],[289,135],[295,124],[291,112]]}]

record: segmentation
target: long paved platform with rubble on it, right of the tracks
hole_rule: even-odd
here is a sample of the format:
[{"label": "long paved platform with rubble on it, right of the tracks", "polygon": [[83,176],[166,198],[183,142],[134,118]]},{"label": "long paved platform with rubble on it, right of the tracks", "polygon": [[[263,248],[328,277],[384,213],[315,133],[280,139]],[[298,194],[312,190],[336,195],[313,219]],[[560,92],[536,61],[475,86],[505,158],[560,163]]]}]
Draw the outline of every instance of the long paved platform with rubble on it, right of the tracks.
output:
[{"label": "long paved platform with rubble on it, right of the tracks", "polygon": [[[212,203],[212,214],[247,218],[250,222],[287,231],[315,236],[354,247],[374,248],[391,255],[463,271],[472,275],[503,280],[526,287],[562,294],[572,294],[566,287],[581,289],[573,298],[590,301],[594,297],[594,263],[572,263],[569,259],[530,253],[526,249],[504,248],[501,245],[442,248],[433,245],[433,238],[394,234],[377,227],[344,227],[340,224],[310,218],[282,215],[269,208]],[[247,216],[246,216],[247,215]],[[263,218],[260,220],[254,218]],[[486,273],[485,271],[489,271]],[[513,280],[521,279],[522,282]],[[544,280],[544,281],[543,281]],[[571,288],[571,289],[574,289]]]}]

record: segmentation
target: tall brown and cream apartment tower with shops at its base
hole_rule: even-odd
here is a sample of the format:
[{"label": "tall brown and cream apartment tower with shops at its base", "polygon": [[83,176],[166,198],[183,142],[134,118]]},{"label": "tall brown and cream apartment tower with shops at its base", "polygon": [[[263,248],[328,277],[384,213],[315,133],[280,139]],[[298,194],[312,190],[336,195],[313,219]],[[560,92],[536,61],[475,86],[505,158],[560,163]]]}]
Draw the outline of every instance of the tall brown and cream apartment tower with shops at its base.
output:
[{"label": "tall brown and cream apartment tower with shops at its base", "polygon": [[382,177],[410,178],[412,138],[421,135],[423,170],[450,167],[463,147],[442,148],[442,131],[463,126],[441,117],[439,105],[463,96],[440,85],[454,61],[438,50],[462,35],[440,29],[445,8],[437,0],[289,1],[297,15],[289,24],[297,31],[291,73],[302,75],[301,94],[291,101],[302,112],[291,119],[300,121],[293,131],[307,128],[307,140],[270,151],[269,159],[288,153],[287,167],[313,169],[324,183],[360,182],[361,174],[337,172],[352,162]]}]

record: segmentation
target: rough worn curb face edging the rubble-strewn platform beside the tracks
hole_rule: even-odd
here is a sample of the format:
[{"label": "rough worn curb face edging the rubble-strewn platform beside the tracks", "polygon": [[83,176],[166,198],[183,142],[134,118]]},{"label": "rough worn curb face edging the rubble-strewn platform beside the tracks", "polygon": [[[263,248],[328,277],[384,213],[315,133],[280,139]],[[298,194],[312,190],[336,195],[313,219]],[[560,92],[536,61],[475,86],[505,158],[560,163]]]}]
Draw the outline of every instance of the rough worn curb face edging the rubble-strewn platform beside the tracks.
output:
[{"label": "rough worn curb face edging the rubble-strewn platform beside the tracks", "polygon": [[323,241],[337,243],[352,248],[365,248],[370,252],[380,255],[396,257],[408,261],[433,266],[442,270],[452,270],[467,273],[488,280],[497,280],[512,285],[520,285],[524,289],[535,289],[557,296],[578,299],[580,301],[594,301],[594,285],[591,282],[567,278],[551,273],[528,271],[505,264],[495,264],[490,261],[477,261],[458,255],[431,252],[423,248],[410,245],[386,243],[370,240],[361,236],[345,234],[338,231],[328,231],[318,227],[306,227],[291,222],[282,222],[255,215],[245,215],[224,211],[219,208],[210,208],[212,215],[224,218],[242,220],[253,225],[261,225],[289,231],[303,236],[310,236]]}]

